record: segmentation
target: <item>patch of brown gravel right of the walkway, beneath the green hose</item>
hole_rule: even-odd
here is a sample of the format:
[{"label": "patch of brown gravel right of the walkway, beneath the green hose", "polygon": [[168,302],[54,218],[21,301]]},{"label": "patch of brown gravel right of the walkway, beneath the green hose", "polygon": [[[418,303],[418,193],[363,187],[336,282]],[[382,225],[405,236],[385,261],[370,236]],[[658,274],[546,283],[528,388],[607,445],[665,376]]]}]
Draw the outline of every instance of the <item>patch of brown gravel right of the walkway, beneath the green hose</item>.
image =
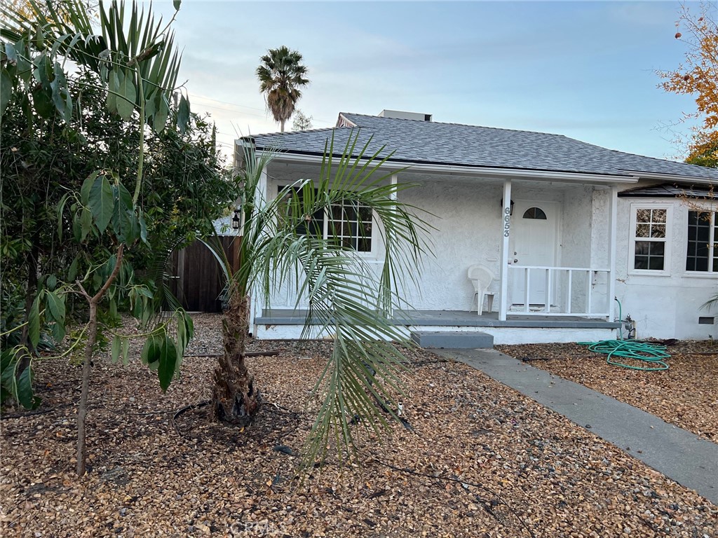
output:
[{"label": "patch of brown gravel right of the walkway, beneath the green hose", "polygon": [[[607,364],[579,344],[526,344],[496,349],[531,366],[615,397],[667,423],[718,442],[718,344],[668,341],[668,369],[641,372]],[[638,364],[628,359],[626,364]]]}]

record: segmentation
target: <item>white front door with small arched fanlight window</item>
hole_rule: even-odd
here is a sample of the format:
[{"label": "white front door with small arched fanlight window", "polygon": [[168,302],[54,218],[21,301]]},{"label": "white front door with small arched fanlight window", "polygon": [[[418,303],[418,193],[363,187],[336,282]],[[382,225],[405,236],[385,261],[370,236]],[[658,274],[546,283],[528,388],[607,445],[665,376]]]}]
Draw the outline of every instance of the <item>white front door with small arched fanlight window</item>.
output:
[{"label": "white front door with small arched fanlight window", "polygon": [[[556,265],[556,235],[559,204],[517,200],[511,217],[509,263],[518,267]],[[526,301],[526,272],[510,270],[511,303]],[[555,290],[555,286],[551,286]],[[553,300],[554,293],[551,293]],[[528,302],[546,305],[546,271],[529,271]]]}]

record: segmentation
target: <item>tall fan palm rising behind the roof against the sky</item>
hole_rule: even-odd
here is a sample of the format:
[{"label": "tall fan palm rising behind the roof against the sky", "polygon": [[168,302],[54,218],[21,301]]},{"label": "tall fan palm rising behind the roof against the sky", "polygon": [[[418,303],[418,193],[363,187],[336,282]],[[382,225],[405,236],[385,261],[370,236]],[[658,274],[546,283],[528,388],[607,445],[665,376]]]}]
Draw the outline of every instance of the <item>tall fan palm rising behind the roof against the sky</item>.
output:
[{"label": "tall fan palm rising behind the roof against the sky", "polygon": [[284,46],[269,49],[260,60],[256,71],[259,91],[264,93],[267,108],[284,133],[284,123],[292,117],[294,105],[302,97],[299,88],[309,84],[307,67],[302,65],[299,52]]}]

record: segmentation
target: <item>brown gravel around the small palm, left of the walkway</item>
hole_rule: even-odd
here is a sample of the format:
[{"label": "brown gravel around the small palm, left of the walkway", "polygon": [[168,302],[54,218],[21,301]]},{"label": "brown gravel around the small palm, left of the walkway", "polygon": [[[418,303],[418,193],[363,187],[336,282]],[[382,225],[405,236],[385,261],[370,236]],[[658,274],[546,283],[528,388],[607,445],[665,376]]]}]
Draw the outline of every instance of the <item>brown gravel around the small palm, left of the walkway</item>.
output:
[{"label": "brown gravel around the small palm, left of the walkway", "polygon": [[[219,349],[195,317],[195,354]],[[185,359],[167,394],[141,364],[95,361],[90,472],[73,475],[80,370],[37,365],[39,413],[1,421],[3,537],[699,537],[718,507],[463,364],[409,351],[406,419],[363,464],[295,472],[327,342],[255,341],[265,405],[244,430],[211,423],[211,357]]]}]

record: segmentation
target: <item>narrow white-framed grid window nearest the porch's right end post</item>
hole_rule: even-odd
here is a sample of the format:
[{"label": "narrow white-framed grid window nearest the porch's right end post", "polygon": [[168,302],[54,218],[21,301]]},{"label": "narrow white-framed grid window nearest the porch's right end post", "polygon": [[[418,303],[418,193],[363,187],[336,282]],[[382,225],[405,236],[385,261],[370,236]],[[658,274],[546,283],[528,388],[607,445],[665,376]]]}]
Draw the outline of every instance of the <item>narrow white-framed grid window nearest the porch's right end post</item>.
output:
[{"label": "narrow white-framed grid window nearest the porch's right end post", "polygon": [[631,272],[668,274],[671,211],[670,205],[631,205],[629,248]]}]

